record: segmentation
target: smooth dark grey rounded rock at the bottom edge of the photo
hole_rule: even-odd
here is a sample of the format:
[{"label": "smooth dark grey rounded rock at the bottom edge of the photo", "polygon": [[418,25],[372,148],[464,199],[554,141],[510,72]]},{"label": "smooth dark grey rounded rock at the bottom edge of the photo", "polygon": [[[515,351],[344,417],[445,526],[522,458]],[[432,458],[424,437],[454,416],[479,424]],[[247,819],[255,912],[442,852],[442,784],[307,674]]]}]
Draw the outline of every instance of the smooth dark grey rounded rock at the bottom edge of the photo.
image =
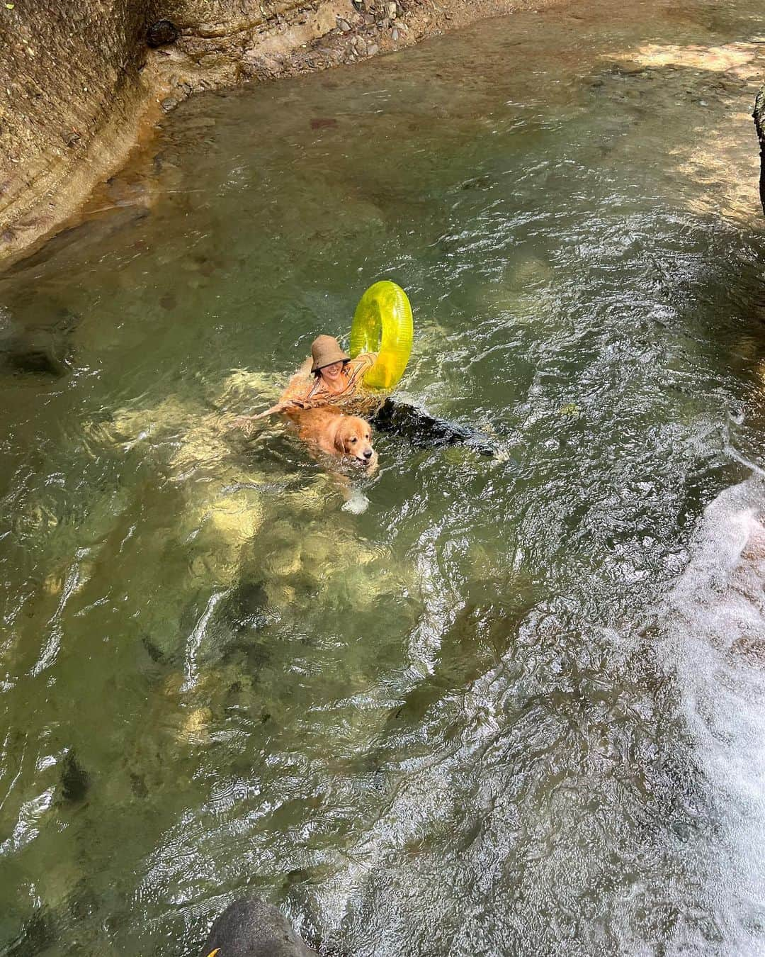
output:
[{"label": "smooth dark grey rounded rock at the bottom edge of the photo", "polygon": [[234,901],[212,924],[202,957],[316,957],[284,915],[258,898]]}]

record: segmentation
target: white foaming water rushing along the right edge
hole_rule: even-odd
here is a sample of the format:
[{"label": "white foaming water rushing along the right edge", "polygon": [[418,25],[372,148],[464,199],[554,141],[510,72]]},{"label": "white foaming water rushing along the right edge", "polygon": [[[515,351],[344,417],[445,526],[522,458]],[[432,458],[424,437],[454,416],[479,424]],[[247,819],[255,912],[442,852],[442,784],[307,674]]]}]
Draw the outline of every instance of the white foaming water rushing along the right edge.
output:
[{"label": "white foaming water rushing along the right edge", "polygon": [[704,514],[668,599],[668,653],[719,831],[706,870],[729,953],[765,952],[765,484],[726,489]]}]

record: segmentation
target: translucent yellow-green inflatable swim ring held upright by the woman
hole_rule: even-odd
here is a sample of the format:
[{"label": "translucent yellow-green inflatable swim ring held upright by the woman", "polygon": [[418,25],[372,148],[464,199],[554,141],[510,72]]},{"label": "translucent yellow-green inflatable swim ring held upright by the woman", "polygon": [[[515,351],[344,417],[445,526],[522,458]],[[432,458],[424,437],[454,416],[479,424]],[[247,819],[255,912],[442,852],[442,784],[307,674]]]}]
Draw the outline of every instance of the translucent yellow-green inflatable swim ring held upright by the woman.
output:
[{"label": "translucent yellow-green inflatable swim ring held upright by the woman", "polygon": [[359,300],[351,325],[352,358],[377,352],[377,362],[364,375],[369,389],[393,389],[404,375],[412,351],[412,307],[395,282],[383,279],[370,286]]}]

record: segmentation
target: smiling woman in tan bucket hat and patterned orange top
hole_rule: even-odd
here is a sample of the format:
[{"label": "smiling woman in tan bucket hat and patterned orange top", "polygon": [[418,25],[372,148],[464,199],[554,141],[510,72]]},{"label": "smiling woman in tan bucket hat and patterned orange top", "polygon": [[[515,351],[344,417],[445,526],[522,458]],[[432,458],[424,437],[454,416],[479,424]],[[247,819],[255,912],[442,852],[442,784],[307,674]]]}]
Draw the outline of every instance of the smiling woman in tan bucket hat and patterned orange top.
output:
[{"label": "smiling woman in tan bucket hat and patterned orange top", "polygon": [[[311,345],[311,359],[306,360],[292,377],[276,405],[250,418],[265,418],[274,412],[289,413],[298,409],[345,404],[362,389],[364,373],[374,366],[376,359],[374,352],[363,352],[351,359],[333,336],[317,336]],[[314,376],[313,380],[311,375]]]}]

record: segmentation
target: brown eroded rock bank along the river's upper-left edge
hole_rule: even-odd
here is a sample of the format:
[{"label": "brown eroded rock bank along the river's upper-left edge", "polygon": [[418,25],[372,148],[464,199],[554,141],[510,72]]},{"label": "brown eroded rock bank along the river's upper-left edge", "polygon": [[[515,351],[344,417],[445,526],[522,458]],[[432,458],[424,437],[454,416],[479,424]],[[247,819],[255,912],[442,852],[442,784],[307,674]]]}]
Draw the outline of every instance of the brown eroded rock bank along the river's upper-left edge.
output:
[{"label": "brown eroded rock bank along the river's upper-left edge", "polygon": [[565,0],[0,3],[0,264],[55,233],[162,110]]}]

